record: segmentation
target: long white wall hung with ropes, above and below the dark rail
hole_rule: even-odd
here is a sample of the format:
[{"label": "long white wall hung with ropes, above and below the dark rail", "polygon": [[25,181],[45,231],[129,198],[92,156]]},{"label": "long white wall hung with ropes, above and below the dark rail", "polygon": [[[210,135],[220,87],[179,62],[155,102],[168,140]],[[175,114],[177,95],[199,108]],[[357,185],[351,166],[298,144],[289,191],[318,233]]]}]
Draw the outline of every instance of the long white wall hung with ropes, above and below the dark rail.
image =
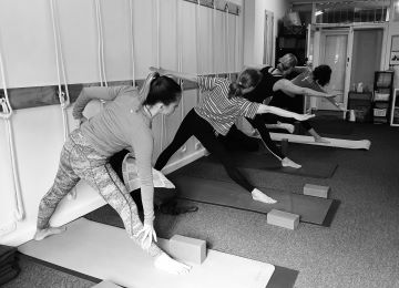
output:
[{"label": "long white wall hung with ropes, above and below the dark rail", "polygon": [[[54,0],[58,7],[61,40],[68,83],[98,82],[98,31],[94,1]],[[242,4],[242,0],[235,0]],[[49,0],[0,1],[0,48],[4,60],[7,88],[57,85],[54,40]],[[101,0],[106,79],[132,79],[129,0]],[[143,79],[149,66],[156,64],[155,0],[133,0],[134,63],[136,79]],[[160,64],[177,69],[176,9],[180,9],[183,71],[191,73],[234,72],[243,66],[243,17],[217,11],[212,25],[212,9],[200,8],[201,32],[196,39],[196,4],[182,0],[160,0]],[[228,24],[227,24],[228,23]],[[215,29],[214,29],[215,28]],[[229,31],[228,39],[224,34]],[[239,34],[236,34],[236,31]],[[215,33],[217,41],[212,41]],[[196,44],[200,43],[200,65]],[[228,49],[228,60],[224,52]],[[2,88],[2,83],[0,84]],[[196,91],[184,92],[184,100],[174,115],[166,117],[161,131],[161,117],[154,121],[154,158],[172,140],[182,117],[196,103]],[[89,114],[100,111],[91,103]],[[76,122],[69,113],[69,128]],[[14,132],[21,192],[25,218],[16,222],[14,188],[6,121],[0,119],[0,243],[19,245],[34,233],[38,205],[50,188],[58,168],[63,144],[63,124],[59,105],[18,110],[10,119]],[[163,147],[161,147],[161,137]],[[201,156],[191,140],[186,152],[176,153],[170,169]],[[84,183],[78,185],[78,198],[64,199],[52,223],[62,225],[103,205],[101,197]],[[7,228],[11,232],[7,233]]]}]

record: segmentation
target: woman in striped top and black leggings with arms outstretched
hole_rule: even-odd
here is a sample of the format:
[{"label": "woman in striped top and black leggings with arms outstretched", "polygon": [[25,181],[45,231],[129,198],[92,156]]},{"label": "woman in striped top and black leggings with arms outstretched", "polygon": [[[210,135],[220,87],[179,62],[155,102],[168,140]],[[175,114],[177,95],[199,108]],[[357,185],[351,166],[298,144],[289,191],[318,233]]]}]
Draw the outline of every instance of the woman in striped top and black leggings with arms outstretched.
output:
[{"label": "woman in striped top and black leggings with arms outstretched", "polygon": [[201,103],[192,109],[184,117],[172,143],[162,152],[156,161],[155,168],[162,169],[172,155],[191,137],[195,136],[204,147],[216,156],[224,165],[227,174],[238,185],[250,192],[254,200],[274,204],[275,199],[255,188],[235,167],[232,157],[217,135],[226,135],[237,117],[246,116],[253,119],[259,113],[274,113],[280,116],[295,117],[304,121],[314,115],[300,115],[278,107],[254,103],[245,100],[244,94],[252,91],[260,81],[262,74],[254,69],[243,71],[237,81],[231,83],[227,79],[197,76],[175,71],[151,68],[161,74],[196,82],[200,89],[209,91]]}]

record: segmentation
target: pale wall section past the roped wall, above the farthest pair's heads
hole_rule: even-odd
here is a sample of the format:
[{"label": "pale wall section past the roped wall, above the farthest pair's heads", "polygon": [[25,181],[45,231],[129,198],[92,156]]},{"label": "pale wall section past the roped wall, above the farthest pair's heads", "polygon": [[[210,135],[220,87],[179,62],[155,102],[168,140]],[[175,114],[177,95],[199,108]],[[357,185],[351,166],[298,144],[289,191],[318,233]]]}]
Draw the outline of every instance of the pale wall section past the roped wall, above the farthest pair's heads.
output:
[{"label": "pale wall section past the roped wall, above the farthest pair's heads", "polygon": [[[263,63],[264,55],[265,10],[274,12],[274,38],[276,38],[277,20],[286,13],[288,1],[246,0],[244,4],[244,64],[259,65]],[[275,43],[273,51],[275,52]]]}]

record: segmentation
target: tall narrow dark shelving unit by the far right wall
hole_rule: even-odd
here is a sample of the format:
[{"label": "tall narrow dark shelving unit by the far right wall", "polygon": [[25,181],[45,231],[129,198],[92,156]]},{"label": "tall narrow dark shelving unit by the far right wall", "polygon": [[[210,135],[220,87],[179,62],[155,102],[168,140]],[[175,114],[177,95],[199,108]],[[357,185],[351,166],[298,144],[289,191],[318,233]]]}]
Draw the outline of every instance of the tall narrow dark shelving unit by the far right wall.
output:
[{"label": "tall narrow dark shelving unit by the far right wall", "polygon": [[390,122],[392,101],[393,71],[376,71],[372,99],[372,122],[385,124]]}]

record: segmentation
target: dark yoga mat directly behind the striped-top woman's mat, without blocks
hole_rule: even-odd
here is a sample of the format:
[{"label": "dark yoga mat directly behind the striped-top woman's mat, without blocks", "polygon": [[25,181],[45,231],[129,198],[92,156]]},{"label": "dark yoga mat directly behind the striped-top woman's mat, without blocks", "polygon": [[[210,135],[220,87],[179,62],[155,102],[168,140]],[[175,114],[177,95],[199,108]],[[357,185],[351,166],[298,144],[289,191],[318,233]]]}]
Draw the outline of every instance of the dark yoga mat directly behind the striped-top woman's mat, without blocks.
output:
[{"label": "dark yoga mat directly behind the striped-top woman's mat, without blocks", "polygon": [[[280,162],[269,153],[262,152],[237,152],[232,153],[232,158],[237,167],[254,168],[262,171],[273,171],[285,174],[308,176],[314,178],[330,178],[337,169],[337,164],[317,162],[313,160],[300,161],[301,167],[296,169],[291,167],[283,167]],[[217,163],[221,162],[212,154],[207,157],[202,157],[198,163]],[[222,164],[221,164],[222,165]]]}]

